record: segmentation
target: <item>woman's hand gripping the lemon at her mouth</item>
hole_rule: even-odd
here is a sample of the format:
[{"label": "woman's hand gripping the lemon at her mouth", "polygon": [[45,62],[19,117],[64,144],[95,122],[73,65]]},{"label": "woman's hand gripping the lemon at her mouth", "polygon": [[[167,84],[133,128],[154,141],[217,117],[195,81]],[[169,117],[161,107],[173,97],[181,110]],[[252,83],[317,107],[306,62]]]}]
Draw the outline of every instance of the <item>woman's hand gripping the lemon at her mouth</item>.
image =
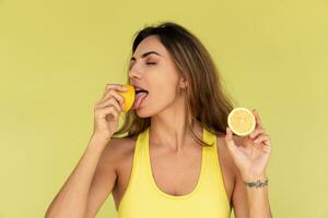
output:
[{"label": "woman's hand gripping the lemon at her mouth", "polygon": [[93,135],[110,140],[118,128],[120,112],[125,100],[118,92],[126,92],[122,85],[106,84],[103,97],[94,107]]}]

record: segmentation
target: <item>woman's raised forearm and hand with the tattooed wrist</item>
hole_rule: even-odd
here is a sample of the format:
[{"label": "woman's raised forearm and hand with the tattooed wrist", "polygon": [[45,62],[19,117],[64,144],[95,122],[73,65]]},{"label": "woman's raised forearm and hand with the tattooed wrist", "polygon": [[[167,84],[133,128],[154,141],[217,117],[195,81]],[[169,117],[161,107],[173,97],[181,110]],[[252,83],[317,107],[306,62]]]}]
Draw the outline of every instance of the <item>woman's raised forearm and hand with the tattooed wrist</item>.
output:
[{"label": "woman's raised forearm and hand with the tattooed wrist", "polygon": [[[271,209],[268,194],[267,166],[271,154],[269,135],[262,128],[258,112],[254,109],[256,128],[251,134],[242,137],[237,144],[233,140],[232,131],[226,128],[225,142],[230,154],[238,168],[239,174],[236,179],[234,193],[236,196],[246,195],[247,211],[237,211],[243,217],[271,218]],[[245,199],[235,199],[244,202]],[[237,218],[238,215],[236,216]]]}]

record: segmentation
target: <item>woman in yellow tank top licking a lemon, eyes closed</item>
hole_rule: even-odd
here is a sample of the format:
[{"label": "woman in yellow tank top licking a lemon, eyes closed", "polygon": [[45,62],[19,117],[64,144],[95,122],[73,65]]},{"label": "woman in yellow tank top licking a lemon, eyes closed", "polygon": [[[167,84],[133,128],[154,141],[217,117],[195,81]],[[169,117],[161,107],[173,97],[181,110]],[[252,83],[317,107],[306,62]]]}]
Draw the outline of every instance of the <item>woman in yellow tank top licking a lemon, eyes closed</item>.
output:
[{"label": "woman in yellow tank top licking a lemon, eyes closed", "polygon": [[255,131],[233,135],[232,102],[196,36],[172,22],[140,31],[128,83],[133,109],[117,130],[125,88],[106,85],[89,145],[46,217],[95,217],[109,194],[121,218],[226,218],[232,208],[271,217],[269,136],[256,110]]}]

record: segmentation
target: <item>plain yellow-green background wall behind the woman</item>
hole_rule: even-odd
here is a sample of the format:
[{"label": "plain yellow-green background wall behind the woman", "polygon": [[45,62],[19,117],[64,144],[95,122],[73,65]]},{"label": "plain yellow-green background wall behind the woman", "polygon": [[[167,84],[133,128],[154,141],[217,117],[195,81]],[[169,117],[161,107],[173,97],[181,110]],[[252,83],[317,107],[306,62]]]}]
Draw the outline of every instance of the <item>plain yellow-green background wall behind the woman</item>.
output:
[{"label": "plain yellow-green background wall behind the woman", "polygon": [[[274,217],[326,218],[327,0],[0,0],[0,218],[44,217],[86,147],[133,34],[174,21],[212,55],[271,136]],[[112,195],[97,217],[116,217]]]}]

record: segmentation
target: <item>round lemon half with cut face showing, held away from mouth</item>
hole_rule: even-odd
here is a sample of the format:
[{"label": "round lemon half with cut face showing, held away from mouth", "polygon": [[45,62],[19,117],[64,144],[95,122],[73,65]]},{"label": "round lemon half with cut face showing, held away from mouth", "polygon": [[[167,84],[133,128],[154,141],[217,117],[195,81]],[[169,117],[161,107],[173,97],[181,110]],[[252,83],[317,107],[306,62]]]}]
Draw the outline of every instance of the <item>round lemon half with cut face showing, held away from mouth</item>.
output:
[{"label": "round lemon half with cut face showing, held away from mouth", "polygon": [[255,129],[255,117],[246,108],[234,108],[227,116],[229,128],[239,136],[251,133]]}]

